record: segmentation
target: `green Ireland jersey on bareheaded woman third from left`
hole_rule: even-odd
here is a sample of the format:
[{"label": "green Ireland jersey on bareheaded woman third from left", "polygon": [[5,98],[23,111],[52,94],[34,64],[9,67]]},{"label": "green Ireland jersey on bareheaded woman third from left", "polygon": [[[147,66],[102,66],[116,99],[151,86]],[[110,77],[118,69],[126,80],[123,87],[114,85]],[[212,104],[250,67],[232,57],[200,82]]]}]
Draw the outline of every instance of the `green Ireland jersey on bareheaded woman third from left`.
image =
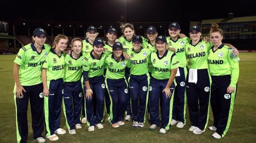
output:
[{"label": "green Ireland jersey on bareheaded woman third from left", "polygon": [[72,53],[65,56],[65,72],[63,80],[65,82],[73,82],[81,79],[82,76],[83,56],[74,59]]}]

